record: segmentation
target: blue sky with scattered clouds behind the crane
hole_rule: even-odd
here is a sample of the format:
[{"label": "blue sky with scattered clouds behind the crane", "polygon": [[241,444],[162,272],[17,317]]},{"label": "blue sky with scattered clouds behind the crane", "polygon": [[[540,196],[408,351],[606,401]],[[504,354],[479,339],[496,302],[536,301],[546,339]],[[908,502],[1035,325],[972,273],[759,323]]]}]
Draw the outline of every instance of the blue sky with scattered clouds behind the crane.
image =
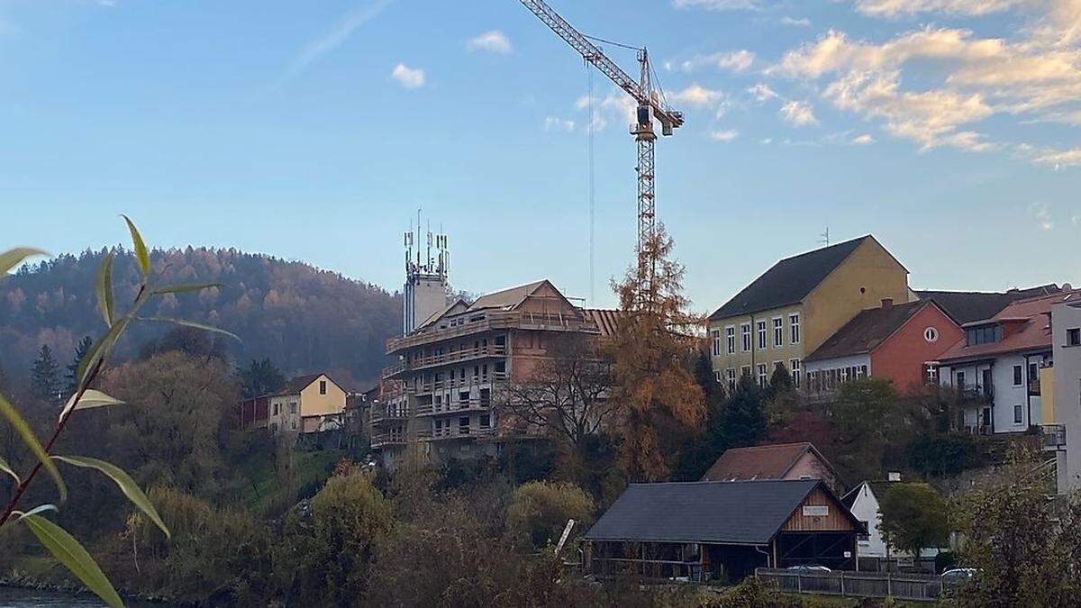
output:
[{"label": "blue sky with scattered clouds behind the crane", "polygon": [[[875,234],[913,287],[1078,282],[1081,0],[550,0],[646,44],[696,308]],[[633,53],[605,51],[628,71]],[[626,98],[516,0],[0,0],[9,244],[237,247],[396,289],[417,208],[472,292],[631,262]],[[5,247],[5,246],[4,246]]]}]

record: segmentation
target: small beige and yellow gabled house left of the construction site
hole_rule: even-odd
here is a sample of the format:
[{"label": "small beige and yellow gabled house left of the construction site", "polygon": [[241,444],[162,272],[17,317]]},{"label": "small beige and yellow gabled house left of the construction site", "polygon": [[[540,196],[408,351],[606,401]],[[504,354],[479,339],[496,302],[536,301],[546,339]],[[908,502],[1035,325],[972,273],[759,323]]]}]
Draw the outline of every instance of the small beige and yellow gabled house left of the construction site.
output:
[{"label": "small beige and yellow gabled house left of the construction site", "polygon": [[325,373],[298,375],[269,397],[272,433],[319,433],[342,427],[346,392]]}]

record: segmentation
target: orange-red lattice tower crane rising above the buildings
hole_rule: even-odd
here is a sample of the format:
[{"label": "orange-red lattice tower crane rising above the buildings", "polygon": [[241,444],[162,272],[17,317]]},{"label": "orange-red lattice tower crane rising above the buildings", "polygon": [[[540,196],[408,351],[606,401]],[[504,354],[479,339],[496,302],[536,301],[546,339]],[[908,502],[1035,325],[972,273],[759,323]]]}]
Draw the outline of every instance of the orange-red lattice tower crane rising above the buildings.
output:
[{"label": "orange-red lattice tower crane rising above the buildings", "polygon": [[[627,72],[610,60],[589,37],[574,29],[570,23],[559,15],[544,0],[520,0],[545,25],[551,28],[560,38],[566,41],[582,57],[597,67],[612,82],[623,89],[638,104],[635,113],[636,123],[630,125],[630,134],[638,143],[638,256],[643,263],[642,249],[653,237],[655,199],[654,182],[654,144],[657,136],[653,130],[654,119],[660,122],[660,133],[671,135],[675,129],[683,125],[683,113],[676,111],[664,102],[658,90],[653,88],[653,70],[650,67],[650,54],[644,48],[635,48],[638,52],[638,63],[641,68],[636,81]],[[651,274],[652,278],[652,274]]]}]

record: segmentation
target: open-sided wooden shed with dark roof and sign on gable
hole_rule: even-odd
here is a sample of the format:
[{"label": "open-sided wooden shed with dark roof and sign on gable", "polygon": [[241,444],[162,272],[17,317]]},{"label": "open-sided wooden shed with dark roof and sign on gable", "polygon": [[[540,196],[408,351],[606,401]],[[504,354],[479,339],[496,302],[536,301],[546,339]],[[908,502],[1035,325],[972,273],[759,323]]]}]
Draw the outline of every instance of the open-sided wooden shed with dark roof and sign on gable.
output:
[{"label": "open-sided wooden shed with dark roof and sign on gable", "polygon": [[584,537],[597,576],[735,581],[759,566],[855,568],[866,527],[818,479],[632,484]]}]

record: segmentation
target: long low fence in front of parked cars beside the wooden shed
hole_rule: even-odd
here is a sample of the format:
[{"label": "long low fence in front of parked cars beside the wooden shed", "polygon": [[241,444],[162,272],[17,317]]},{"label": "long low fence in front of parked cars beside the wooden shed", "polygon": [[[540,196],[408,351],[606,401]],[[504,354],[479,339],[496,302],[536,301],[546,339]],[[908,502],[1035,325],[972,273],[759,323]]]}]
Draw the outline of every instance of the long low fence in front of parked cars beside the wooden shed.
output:
[{"label": "long low fence in front of parked cars beside the wooden shed", "polygon": [[758,568],[755,570],[755,577],[763,584],[789,593],[912,600],[934,600],[943,593],[942,579],[929,574]]}]

